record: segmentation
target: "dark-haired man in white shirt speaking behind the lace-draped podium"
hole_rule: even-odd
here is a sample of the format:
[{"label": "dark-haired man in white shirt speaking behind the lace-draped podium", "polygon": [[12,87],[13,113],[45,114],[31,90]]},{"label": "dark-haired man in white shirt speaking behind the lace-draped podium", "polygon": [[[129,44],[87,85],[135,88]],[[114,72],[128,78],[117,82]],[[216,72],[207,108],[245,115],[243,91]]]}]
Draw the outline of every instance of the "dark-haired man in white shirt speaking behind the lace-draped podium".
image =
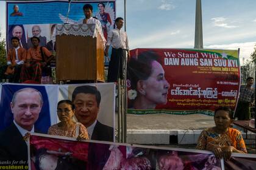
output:
[{"label": "dark-haired man in white shirt speaking behind the lace-draped podium", "polygon": [[84,14],[85,14],[85,18],[82,18],[78,21],[78,24],[96,24],[96,29],[98,29],[99,35],[101,35],[102,41],[107,42],[104,38],[104,35],[102,33],[102,27],[101,27],[101,22],[96,19],[93,18],[92,14],[93,14],[93,6],[91,6],[90,4],[85,4],[83,7],[84,10]]}]

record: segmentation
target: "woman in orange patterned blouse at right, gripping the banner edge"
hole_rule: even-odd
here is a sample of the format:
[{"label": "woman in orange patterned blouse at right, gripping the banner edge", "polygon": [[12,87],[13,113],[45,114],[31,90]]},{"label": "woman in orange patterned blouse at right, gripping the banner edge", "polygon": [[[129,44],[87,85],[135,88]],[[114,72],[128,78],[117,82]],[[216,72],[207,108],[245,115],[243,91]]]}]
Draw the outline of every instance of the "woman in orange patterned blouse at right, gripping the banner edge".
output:
[{"label": "woman in orange patterned blouse at right, gripping the banner edge", "polygon": [[212,151],[217,158],[229,160],[232,152],[247,153],[241,133],[230,127],[233,113],[229,107],[219,107],[214,115],[215,127],[201,132],[197,149]]}]

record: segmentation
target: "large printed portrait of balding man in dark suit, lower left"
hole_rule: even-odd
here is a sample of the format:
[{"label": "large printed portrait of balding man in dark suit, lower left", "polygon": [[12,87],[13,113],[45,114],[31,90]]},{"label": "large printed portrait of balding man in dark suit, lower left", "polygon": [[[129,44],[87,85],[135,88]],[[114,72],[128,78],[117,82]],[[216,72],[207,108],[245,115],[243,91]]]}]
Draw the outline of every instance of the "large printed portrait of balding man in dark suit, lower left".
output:
[{"label": "large printed portrait of balding man in dark suit, lower left", "polygon": [[24,135],[27,132],[38,132],[34,124],[42,106],[43,98],[37,89],[23,88],[13,94],[10,107],[14,120],[0,132],[0,161],[4,165],[27,165],[27,143]]}]

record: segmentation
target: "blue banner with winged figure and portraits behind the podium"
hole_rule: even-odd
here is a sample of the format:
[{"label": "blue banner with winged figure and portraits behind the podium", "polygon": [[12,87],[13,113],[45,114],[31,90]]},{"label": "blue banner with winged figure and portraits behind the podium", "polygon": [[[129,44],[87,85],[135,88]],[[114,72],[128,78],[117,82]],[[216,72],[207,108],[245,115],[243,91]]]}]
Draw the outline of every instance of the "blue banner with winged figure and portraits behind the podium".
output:
[{"label": "blue banner with winged figure and portraits behind the podium", "polygon": [[[92,16],[101,21],[102,32],[105,39],[109,30],[114,28],[116,18],[115,0],[109,1],[71,1],[68,15],[69,24],[76,24],[85,18],[83,6],[93,6]],[[32,47],[30,38],[38,36],[40,46],[55,51],[56,44],[52,33],[55,24],[66,22],[68,13],[68,1],[7,1],[7,49],[12,47],[10,39],[17,36],[21,39],[21,47],[29,49]],[[105,57],[108,65],[109,58]]]}]

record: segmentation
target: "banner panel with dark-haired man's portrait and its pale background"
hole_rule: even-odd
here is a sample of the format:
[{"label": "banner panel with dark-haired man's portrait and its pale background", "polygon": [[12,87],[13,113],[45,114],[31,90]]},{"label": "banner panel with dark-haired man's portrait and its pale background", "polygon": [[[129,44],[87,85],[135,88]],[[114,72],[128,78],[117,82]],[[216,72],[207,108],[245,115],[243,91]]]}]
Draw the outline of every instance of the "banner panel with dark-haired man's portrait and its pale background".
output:
[{"label": "banner panel with dark-haired man's portrait and its pale background", "polygon": [[97,120],[91,139],[115,141],[115,83],[59,86],[59,101],[73,101],[77,121],[85,127]]}]

